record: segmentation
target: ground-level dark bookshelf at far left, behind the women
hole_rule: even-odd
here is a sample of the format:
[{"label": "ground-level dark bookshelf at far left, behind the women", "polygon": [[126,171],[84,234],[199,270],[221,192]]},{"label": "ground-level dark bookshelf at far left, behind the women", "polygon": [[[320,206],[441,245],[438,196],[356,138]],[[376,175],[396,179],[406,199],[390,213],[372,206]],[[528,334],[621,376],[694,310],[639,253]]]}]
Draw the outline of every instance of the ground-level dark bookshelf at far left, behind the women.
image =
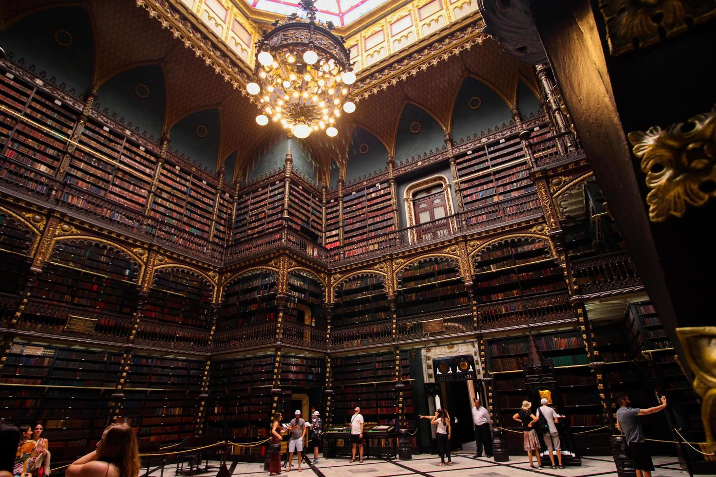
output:
[{"label": "ground-level dark bookshelf at far left, behind the women", "polygon": [[0,373],[0,420],[44,423],[50,448],[100,440],[122,355],[15,340]]}]

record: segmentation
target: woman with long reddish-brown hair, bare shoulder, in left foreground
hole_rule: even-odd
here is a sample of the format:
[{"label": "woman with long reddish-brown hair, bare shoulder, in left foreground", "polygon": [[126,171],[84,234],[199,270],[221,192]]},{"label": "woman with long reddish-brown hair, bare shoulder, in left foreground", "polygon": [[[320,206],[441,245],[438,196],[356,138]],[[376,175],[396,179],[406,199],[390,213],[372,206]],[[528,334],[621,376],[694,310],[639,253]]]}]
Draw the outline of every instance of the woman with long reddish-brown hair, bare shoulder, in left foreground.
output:
[{"label": "woman with long reddish-brown hair, bare shoulder, in left foreground", "polygon": [[137,477],[140,460],[137,436],[126,423],[112,424],[102,433],[97,450],[74,461],[66,477]]}]

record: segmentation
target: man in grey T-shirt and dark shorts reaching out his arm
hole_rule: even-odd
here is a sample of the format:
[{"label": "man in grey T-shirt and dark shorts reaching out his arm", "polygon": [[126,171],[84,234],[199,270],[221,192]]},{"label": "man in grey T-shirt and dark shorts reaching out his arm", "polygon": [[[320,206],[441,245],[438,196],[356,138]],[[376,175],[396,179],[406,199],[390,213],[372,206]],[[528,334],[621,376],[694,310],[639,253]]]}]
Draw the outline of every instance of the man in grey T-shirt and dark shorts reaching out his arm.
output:
[{"label": "man in grey T-shirt and dark shorts reaching out his arm", "polygon": [[649,453],[649,444],[644,441],[642,423],[639,422],[640,415],[658,413],[659,410],[667,407],[667,397],[662,396],[661,404],[648,409],[630,408],[632,400],[628,395],[621,395],[616,399],[619,409],[616,410],[616,428],[624,434],[627,442],[627,453],[634,461],[634,471],[637,477],[652,477],[654,463]]}]

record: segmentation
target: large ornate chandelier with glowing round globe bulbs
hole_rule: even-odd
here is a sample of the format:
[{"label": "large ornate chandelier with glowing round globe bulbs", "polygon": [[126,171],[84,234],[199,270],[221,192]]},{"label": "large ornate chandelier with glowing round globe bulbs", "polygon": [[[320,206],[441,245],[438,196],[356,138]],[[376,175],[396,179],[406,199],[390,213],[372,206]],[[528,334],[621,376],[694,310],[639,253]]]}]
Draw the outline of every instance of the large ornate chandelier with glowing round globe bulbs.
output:
[{"label": "large ornate chandelier with glowing round globe bulbs", "polygon": [[306,19],[291,14],[263,31],[246,91],[258,98],[259,125],[279,122],[301,139],[319,129],[334,137],[341,112],[356,109],[350,101],[356,75],[343,38],[332,33],[332,22],[316,22],[314,0],[301,0],[299,6]]}]

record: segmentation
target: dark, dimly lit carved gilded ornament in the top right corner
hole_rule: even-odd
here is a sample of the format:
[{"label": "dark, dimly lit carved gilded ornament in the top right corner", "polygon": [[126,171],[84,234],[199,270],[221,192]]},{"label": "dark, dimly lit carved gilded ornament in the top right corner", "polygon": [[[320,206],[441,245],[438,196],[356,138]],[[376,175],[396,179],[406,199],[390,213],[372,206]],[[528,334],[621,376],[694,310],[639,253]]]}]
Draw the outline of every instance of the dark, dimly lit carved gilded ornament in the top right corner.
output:
[{"label": "dark, dimly lit carved gilded ornament in the top right corner", "polygon": [[682,34],[690,24],[716,16],[713,0],[611,0],[601,4],[613,55],[644,48]]}]

